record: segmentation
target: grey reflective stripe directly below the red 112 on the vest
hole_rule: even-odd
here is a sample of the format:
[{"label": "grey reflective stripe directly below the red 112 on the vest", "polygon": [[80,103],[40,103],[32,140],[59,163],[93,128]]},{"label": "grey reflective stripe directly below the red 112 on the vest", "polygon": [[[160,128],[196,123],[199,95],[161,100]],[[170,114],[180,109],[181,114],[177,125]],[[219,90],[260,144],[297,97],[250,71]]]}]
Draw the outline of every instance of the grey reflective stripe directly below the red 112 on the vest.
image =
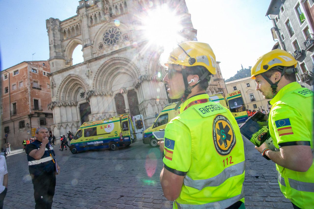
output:
[{"label": "grey reflective stripe directly below the red 112 on the vest", "polygon": [[198,190],[202,190],[203,188],[207,186],[219,186],[222,183],[224,183],[227,179],[233,176],[243,174],[244,170],[245,170],[245,162],[243,161],[241,163],[225,168],[220,174],[209,179],[192,180],[190,177],[186,175],[184,177],[183,183],[186,186],[189,186]]}]

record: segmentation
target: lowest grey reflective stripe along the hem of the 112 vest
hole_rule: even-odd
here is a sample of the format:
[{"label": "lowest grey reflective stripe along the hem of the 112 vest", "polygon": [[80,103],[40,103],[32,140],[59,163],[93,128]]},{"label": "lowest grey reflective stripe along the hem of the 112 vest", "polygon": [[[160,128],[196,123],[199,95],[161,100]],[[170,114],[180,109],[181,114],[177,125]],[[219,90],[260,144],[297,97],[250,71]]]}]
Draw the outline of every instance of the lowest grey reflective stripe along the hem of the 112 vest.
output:
[{"label": "lowest grey reflective stripe along the hem of the 112 vest", "polygon": [[[240,163],[239,163],[240,164]],[[217,202],[210,202],[210,203],[206,203],[203,205],[188,205],[188,204],[180,204],[176,201],[176,205],[178,206],[178,208],[215,208],[215,209],[224,209],[227,208],[233,204],[235,204],[237,201],[240,201],[242,198],[244,197],[244,192],[243,192],[243,186],[242,186],[242,190],[241,190],[241,194],[234,196],[234,197],[230,197],[228,199],[225,200],[221,200],[221,201],[217,201]]]}]

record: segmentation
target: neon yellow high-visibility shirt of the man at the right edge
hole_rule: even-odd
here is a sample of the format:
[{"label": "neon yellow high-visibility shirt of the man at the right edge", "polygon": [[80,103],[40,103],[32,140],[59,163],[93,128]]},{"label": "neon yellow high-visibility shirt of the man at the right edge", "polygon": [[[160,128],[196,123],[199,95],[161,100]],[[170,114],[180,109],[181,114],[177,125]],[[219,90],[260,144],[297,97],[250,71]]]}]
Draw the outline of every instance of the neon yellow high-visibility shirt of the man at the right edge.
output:
[{"label": "neon yellow high-visibility shirt of the man at the right edge", "polygon": [[[279,90],[270,101],[269,132],[275,147],[307,145],[313,148],[313,92],[297,82]],[[289,153],[285,153],[289,154]],[[306,172],[276,164],[279,187],[300,208],[314,207],[314,160]]]}]

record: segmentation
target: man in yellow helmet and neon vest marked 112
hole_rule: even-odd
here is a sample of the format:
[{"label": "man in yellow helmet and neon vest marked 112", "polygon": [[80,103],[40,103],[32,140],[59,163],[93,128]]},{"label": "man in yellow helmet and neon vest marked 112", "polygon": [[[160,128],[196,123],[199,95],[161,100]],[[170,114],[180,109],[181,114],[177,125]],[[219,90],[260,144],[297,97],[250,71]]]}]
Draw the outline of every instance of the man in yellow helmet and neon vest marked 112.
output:
[{"label": "man in yellow helmet and neon vest marked 112", "polygon": [[[164,56],[165,55],[165,56]],[[163,61],[165,57],[165,61]],[[165,128],[160,182],[174,208],[244,208],[244,148],[231,112],[211,102],[206,88],[216,74],[211,47],[198,41],[179,44],[160,63],[171,99],[180,114]]]}]

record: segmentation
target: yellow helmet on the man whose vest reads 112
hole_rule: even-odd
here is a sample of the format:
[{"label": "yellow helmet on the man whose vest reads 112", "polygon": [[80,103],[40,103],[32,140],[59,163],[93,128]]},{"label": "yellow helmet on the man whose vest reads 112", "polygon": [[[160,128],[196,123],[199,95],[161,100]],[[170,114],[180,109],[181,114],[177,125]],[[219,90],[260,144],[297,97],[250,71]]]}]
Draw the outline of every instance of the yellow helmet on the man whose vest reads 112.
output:
[{"label": "yellow helmet on the man whose vest reads 112", "polygon": [[212,48],[199,41],[186,41],[178,44],[170,54],[164,52],[160,56],[160,64],[164,67],[168,67],[169,64],[203,66],[211,74],[216,74],[216,56]]}]

